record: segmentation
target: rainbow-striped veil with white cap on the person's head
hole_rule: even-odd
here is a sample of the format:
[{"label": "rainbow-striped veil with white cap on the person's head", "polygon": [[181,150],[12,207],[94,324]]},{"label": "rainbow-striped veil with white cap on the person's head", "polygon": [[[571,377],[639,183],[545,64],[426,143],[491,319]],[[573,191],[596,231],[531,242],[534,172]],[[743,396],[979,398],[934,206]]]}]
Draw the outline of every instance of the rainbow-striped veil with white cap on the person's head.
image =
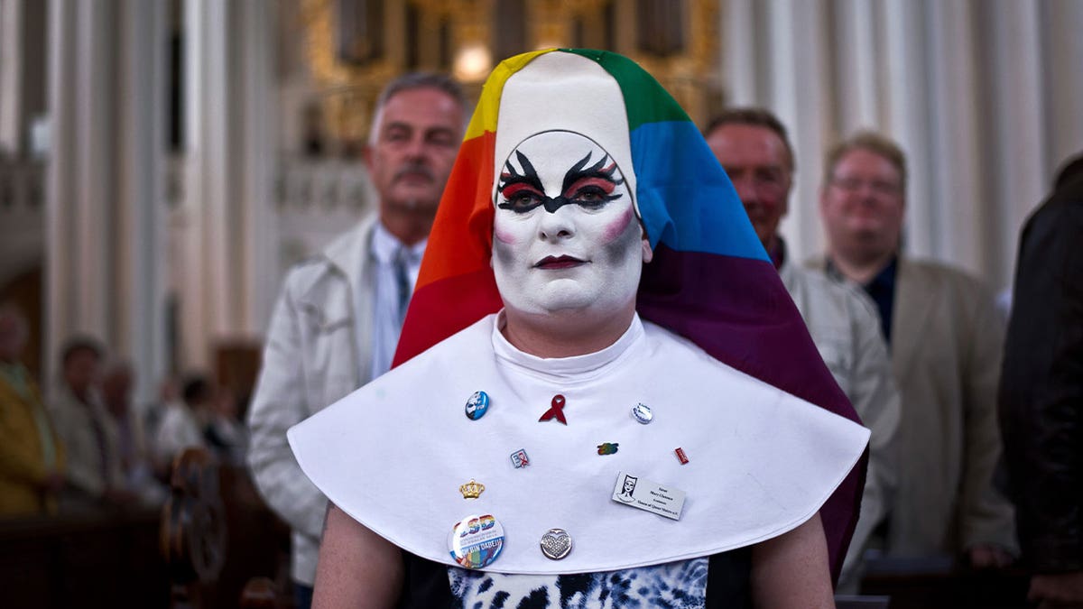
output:
[{"label": "rainbow-striped veil with white cap on the person's head", "polygon": [[[575,59],[535,62],[548,53]],[[582,94],[564,94],[583,85],[584,72],[608,74],[619,88],[623,104],[583,104]],[[546,87],[535,87],[537,98],[518,94],[501,108],[501,102],[509,102],[505,88],[509,81],[518,87],[516,79]],[[625,168],[628,161],[619,156],[630,154],[631,170],[625,174],[654,249],[640,280],[640,316],[736,370],[858,422],[695,125],[651,75],[606,51],[524,53],[506,60],[490,75],[429,236],[395,364],[500,310],[490,264],[497,168],[524,133],[562,128],[567,98],[589,107],[577,108],[582,112],[563,128],[582,132],[584,124],[604,122],[600,129],[609,129],[605,137],[612,138],[609,126],[616,118],[621,138],[628,139],[605,148]],[[510,126],[514,134],[498,137],[498,124]],[[862,458],[854,466],[820,511],[835,578],[857,523],[866,462]]]}]

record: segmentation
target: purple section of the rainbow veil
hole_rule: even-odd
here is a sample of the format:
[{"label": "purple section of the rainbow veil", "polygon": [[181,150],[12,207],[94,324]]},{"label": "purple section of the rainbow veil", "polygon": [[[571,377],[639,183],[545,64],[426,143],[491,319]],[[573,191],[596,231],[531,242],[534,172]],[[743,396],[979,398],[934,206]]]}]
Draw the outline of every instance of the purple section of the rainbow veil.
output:
[{"label": "purple section of the rainbow veil", "polygon": [[[722,363],[861,423],[770,262],[660,244],[643,268],[637,309]],[[833,581],[858,521],[867,461],[866,450],[820,509]]]}]

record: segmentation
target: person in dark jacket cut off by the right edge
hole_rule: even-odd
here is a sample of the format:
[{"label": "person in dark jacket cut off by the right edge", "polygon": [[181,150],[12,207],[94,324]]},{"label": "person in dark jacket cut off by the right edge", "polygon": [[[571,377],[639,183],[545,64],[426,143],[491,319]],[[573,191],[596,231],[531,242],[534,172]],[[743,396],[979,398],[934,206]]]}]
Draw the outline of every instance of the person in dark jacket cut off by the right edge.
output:
[{"label": "person in dark jacket cut off by the right edge", "polygon": [[1083,607],[1081,243],[1083,155],[1023,228],[1001,375],[1004,456],[1041,607]]}]

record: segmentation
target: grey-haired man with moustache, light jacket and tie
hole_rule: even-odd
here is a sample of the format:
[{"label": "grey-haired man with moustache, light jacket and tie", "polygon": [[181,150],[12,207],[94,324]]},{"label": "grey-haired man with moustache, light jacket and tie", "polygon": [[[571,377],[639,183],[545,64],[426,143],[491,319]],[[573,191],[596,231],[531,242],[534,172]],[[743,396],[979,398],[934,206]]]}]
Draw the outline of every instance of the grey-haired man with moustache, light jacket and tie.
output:
[{"label": "grey-haired man with moustache, light jacket and tie", "polygon": [[310,604],[326,500],[297,467],[286,430],[391,367],[466,112],[461,89],[444,75],[388,83],[364,151],[376,212],[292,268],[275,306],[248,414],[248,464],[292,529],[300,609]]}]

